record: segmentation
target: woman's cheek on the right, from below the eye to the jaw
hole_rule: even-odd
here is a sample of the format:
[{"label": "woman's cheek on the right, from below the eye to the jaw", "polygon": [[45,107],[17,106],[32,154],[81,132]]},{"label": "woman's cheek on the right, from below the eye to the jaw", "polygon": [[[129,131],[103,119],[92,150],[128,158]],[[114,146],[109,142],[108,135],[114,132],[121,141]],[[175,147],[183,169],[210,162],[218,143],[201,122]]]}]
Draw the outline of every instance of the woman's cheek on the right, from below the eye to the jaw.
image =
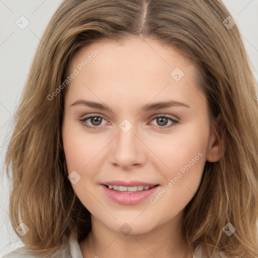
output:
[{"label": "woman's cheek on the right, from below the eye to the jaw", "polygon": [[174,200],[186,204],[190,201],[202,179],[208,141],[209,124],[205,121],[188,123],[180,127],[180,132],[175,131],[173,135],[152,142],[150,149],[155,150],[156,156],[162,161],[155,162],[154,166],[163,177],[162,186],[169,188],[164,191],[168,192],[165,195],[171,199],[162,198],[164,202],[171,203]]}]

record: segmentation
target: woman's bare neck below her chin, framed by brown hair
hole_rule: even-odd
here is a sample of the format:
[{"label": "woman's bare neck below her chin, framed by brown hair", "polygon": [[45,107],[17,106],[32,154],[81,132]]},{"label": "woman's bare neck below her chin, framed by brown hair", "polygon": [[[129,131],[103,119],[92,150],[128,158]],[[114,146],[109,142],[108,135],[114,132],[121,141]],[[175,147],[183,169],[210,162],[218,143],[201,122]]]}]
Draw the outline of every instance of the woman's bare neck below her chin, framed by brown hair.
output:
[{"label": "woman's bare neck below her chin, framed by brown hair", "polygon": [[[178,225],[178,223],[177,223]],[[107,228],[92,216],[92,230],[80,242],[84,258],[123,257],[192,258],[192,252],[183,242],[179,228],[169,221],[151,231],[123,235]]]}]

